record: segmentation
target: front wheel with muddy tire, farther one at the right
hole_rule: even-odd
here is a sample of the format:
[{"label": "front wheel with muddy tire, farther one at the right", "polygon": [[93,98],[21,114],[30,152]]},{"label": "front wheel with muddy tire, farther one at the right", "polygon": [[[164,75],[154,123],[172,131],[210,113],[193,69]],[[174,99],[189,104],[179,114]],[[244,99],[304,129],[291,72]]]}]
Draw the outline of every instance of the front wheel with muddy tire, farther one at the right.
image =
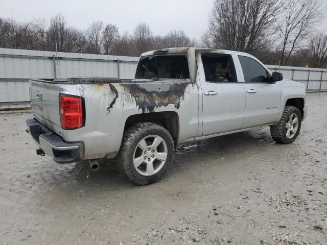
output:
[{"label": "front wheel with muddy tire, farther one at the right", "polygon": [[278,143],[292,143],[301,129],[301,113],[294,106],[285,106],[278,124],[270,127],[271,137]]}]

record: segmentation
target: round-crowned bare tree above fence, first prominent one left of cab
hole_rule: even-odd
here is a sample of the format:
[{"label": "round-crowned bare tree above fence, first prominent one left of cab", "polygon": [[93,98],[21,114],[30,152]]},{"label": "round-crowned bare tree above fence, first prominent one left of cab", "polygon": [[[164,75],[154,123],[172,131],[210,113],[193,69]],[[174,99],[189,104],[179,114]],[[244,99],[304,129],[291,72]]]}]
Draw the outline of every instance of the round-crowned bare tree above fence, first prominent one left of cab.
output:
[{"label": "round-crowned bare tree above fence, first prominent one left of cab", "polygon": [[115,24],[107,24],[102,32],[102,46],[105,55],[114,53],[114,46],[119,40],[119,31]]}]

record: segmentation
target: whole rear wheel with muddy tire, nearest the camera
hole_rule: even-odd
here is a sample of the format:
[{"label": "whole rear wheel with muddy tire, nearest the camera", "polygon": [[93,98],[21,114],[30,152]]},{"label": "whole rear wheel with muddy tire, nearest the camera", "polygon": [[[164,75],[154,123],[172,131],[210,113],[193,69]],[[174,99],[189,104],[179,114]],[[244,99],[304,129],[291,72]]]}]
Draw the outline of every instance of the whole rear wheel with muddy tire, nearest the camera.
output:
[{"label": "whole rear wheel with muddy tire, nearest the camera", "polygon": [[174,141],[160,125],[139,122],[124,132],[116,164],[136,185],[159,181],[174,158]]}]

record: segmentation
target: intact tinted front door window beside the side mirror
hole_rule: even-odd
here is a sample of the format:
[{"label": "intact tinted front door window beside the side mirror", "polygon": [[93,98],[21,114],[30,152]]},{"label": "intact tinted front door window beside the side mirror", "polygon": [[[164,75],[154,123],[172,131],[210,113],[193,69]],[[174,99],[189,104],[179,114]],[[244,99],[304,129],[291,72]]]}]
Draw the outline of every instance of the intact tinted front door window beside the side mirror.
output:
[{"label": "intact tinted front door window beside the side mirror", "polygon": [[239,55],[242,66],[244,80],[246,83],[265,83],[268,82],[268,72],[258,61]]}]

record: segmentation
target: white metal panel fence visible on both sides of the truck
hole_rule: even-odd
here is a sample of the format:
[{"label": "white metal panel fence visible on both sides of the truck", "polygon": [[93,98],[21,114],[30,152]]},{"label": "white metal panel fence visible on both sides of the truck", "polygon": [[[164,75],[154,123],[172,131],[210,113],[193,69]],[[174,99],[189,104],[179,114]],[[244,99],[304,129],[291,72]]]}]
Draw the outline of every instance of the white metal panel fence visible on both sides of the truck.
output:
[{"label": "white metal panel fence visible on both sides of the truck", "polygon": [[[112,77],[132,79],[138,57],[0,48],[0,110],[29,107],[30,78]],[[302,82],[308,92],[327,90],[327,69],[267,65],[271,72]]]}]

